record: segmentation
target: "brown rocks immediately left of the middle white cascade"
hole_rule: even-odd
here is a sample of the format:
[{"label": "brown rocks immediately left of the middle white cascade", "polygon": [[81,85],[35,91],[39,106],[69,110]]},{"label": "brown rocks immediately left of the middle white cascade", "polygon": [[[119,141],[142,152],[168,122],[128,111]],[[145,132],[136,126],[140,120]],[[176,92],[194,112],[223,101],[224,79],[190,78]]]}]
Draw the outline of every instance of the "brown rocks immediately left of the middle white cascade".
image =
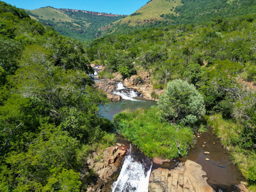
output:
[{"label": "brown rocks immediately left of the middle white cascade", "polygon": [[116,81],[106,80],[106,81],[96,81],[94,84],[95,88],[99,88],[103,90],[108,99],[111,101],[120,101],[122,97],[120,95],[113,94],[113,90],[115,90]]}]

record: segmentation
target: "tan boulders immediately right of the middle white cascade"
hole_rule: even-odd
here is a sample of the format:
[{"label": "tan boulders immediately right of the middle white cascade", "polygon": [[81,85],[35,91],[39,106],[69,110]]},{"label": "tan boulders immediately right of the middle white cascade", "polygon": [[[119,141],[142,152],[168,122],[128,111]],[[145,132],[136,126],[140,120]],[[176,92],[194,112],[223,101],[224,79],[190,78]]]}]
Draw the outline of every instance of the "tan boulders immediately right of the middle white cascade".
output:
[{"label": "tan boulders immediately right of the middle white cascade", "polygon": [[151,96],[152,92],[156,92],[157,95],[164,93],[164,90],[154,90],[153,85],[150,83],[150,76],[147,73],[124,79],[124,86],[141,92],[145,99],[150,100],[157,100],[157,98]]}]

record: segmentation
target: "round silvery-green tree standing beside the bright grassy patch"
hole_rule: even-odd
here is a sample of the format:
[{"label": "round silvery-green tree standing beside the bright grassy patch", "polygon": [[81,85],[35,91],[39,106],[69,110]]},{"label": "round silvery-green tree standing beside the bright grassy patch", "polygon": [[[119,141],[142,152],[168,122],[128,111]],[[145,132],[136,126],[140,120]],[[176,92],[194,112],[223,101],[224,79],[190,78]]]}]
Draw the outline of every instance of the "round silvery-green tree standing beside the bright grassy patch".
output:
[{"label": "round silvery-green tree standing beside the bright grassy patch", "polygon": [[162,120],[179,124],[195,124],[205,115],[204,99],[193,84],[177,79],[168,83],[157,101]]}]

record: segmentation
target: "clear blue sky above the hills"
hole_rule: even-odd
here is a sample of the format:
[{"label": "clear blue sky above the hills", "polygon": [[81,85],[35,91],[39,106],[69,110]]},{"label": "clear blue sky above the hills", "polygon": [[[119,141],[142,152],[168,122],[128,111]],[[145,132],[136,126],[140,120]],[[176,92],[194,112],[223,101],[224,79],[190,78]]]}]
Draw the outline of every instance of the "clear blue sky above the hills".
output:
[{"label": "clear blue sky above the hills", "polygon": [[17,8],[34,10],[43,6],[130,15],[149,0],[1,0]]}]

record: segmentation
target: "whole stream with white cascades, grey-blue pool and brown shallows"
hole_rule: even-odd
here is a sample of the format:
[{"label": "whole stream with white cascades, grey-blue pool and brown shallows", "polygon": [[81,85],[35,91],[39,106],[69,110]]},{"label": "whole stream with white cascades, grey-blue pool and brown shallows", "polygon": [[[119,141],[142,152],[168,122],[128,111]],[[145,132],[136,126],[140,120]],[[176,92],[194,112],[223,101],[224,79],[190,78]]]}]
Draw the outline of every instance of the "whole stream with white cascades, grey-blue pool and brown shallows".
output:
[{"label": "whole stream with white cascades, grey-blue pool and brown shallows", "polygon": [[[100,106],[99,109],[99,115],[111,121],[113,121],[113,116],[124,109],[134,110],[136,108],[150,108],[150,106],[156,105],[155,101],[143,99],[141,93],[131,88],[125,88],[122,83],[116,83],[116,90],[113,93],[121,95],[124,100],[109,102],[106,106]],[[125,141],[122,136],[118,136],[118,143],[131,146],[129,154],[120,158],[116,163],[116,166],[120,166],[120,173],[113,179],[116,181],[111,186],[106,186],[102,191],[147,192],[148,179],[152,170],[160,167],[170,170],[175,168],[179,162],[185,162],[187,159],[202,165],[203,170],[207,173],[207,182],[215,191],[239,191],[236,184],[240,184],[245,179],[232,163],[230,154],[221,146],[220,140],[213,134],[212,129],[199,134],[199,136],[195,134],[195,148],[188,152],[188,156],[174,159],[170,163],[161,165],[153,163],[136,146]],[[206,155],[204,151],[208,151],[211,154]],[[210,161],[205,161],[205,158],[210,159]]]}]

